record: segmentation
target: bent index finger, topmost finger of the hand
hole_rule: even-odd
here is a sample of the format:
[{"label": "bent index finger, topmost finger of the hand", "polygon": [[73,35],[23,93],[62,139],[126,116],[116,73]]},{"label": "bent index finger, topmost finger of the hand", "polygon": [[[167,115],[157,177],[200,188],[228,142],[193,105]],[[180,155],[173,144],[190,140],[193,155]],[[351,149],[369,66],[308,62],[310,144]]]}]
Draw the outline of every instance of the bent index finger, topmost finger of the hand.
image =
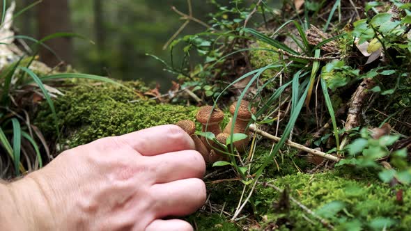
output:
[{"label": "bent index finger, topmost finger of the hand", "polygon": [[118,138],[144,156],[195,150],[192,138],[176,125],[150,127]]}]

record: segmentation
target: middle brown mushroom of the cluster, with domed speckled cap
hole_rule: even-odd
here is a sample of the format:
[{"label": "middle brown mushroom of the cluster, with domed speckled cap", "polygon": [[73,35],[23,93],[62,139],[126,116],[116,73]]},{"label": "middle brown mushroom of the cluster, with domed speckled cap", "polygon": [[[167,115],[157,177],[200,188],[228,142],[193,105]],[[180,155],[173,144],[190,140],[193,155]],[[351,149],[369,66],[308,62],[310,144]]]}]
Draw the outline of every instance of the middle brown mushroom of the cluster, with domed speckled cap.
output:
[{"label": "middle brown mushroom of the cluster, with domed speckled cap", "polygon": [[[224,119],[224,113],[219,109],[212,109],[212,106],[201,106],[196,115],[197,121],[203,125],[203,132],[212,132],[217,136],[222,133],[220,122]],[[211,150],[212,141],[207,141],[206,137],[201,137],[201,141]]]}]

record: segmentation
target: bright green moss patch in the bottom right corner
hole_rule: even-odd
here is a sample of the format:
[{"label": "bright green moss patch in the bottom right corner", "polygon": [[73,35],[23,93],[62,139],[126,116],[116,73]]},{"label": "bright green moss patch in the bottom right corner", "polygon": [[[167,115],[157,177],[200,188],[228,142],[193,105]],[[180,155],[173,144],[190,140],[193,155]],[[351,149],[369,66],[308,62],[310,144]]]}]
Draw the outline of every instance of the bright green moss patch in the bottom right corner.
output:
[{"label": "bright green moss patch in the bottom right corner", "polygon": [[[336,230],[346,230],[349,226],[352,228],[355,225],[365,230],[378,230],[378,223],[382,218],[395,224],[391,227],[392,230],[406,230],[410,227],[411,190],[403,188],[405,205],[399,205],[394,189],[381,184],[377,179],[363,178],[359,181],[352,180],[349,176],[340,171],[316,175],[296,174],[277,178],[272,184],[281,189],[288,186],[290,195],[323,218],[327,218]],[[288,230],[290,227],[293,230],[327,230],[316,218],[303,212],[292,202],[288,213],[275,211],[272,203],[279,200],[279,196],[280,193],[270,187],[260,186],[257,189],[256,200],[260,202],[260,208],[267,209],[267,212],[260,209],[260,212],[267,216],[267,225],[281,221],[286,215],[288,228],[282,225],[280,230]],[[325,209],[325,205],[331,208],[336,201],[343,205],[341,209],[335,212],[332,212],[332,209]],[[329,204],[331,202],[334,204]],[[314,223],[307,222],[303,214]]]}]

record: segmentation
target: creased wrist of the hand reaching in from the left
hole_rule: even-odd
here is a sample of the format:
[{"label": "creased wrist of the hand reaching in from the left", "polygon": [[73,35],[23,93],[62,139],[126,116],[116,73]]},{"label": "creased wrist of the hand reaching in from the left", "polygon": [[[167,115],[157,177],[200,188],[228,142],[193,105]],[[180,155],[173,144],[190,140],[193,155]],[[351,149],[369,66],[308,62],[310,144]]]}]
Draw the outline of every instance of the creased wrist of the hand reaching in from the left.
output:
[{"label": "creased wrist of the hand reaching in from the left", "polygon": [[14,209],[13,221],[19,227],[15,230],[54,230],[54,218],[45,189],[31,175],[6,187],[12,201],[9,207]]}]

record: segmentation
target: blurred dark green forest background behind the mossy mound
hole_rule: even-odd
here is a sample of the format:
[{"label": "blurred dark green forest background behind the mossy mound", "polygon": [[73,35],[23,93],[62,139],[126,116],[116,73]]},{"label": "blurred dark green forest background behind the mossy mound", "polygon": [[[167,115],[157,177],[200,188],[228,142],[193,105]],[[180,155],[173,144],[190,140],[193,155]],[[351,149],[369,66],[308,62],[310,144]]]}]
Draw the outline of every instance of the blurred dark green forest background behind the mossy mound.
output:
[{"label": "blurred dark green forest background behind the mossy mound", "polygon": [[[17,9],[34,2],[17,0]],[[193,15],[205,22],[210,19],[208,14],[216,10],[209,1],[194,0],[192,4]],[[166,90],[176,77],[164,72],[164,65],[146,54],[170,60],[170,51],[163,46],[184,22],[172,6],[188,13],[187,0],[42,0],[36,8],[17,17],[15,27],[17,33],[33,38],[56,32],[83,35],[86,40],[59,38],[47,45],[79,72],[123,80],[143,79],[146,83],[160,83],[161,89]],[[205,29],[190,22],[180,36]],[[178,61],[183,51],[175,50]],[[52,67],[60,63],[49,51],[40,52],[40,56]]]}]

